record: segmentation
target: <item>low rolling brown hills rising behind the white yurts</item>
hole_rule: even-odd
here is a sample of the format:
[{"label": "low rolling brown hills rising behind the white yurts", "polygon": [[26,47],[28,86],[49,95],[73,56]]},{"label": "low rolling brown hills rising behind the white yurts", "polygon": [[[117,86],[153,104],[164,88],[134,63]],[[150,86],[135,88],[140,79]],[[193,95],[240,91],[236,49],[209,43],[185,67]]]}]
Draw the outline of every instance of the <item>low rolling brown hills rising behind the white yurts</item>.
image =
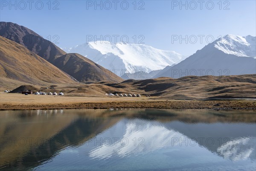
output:
[{"label": "low rolling brown hills rising behind the white yurts", "polygon": [[[63,92],[65,96],[108,97],[105,93],[150,95],[155,99],[256,99],[256,75],[161,77],[121,83],[92,83],[58,86],[44,92]],[[123,98],[127,97],[116,97]],[[92,99],[93,100],[93,99]]]}]

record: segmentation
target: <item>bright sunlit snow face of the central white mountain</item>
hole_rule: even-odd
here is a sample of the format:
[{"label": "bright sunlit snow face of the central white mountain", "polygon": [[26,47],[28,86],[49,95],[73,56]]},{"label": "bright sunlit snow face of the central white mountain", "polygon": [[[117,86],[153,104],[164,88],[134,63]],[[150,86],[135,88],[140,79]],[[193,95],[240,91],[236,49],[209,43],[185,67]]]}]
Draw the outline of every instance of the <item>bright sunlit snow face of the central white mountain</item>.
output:
[{"label": "bright sunlit snow face of the central white mountain", "polygon": [[167,65],[177,64],[182,58],[182,55],[177,52],[164,51],[145,44],[89,42],[89,45],[93,49],[99,50],[103,55],[107,53],[117,55],[128,64],[148,66],[149,71],[160,70]]}]

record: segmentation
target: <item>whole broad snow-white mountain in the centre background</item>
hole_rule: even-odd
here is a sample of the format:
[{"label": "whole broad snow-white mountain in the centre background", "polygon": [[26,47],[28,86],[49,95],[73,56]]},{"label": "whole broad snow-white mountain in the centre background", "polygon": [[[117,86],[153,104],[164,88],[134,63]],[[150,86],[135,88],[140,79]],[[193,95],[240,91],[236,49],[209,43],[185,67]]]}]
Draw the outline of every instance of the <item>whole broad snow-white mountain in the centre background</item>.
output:
[{"label": "whole broad snow-white mountain in the centre background", "polygon": [[177,64],[184,59],[174,51],[156,49],[145,44],[111,43],[96,41],[72,48],[63,48],[68,53],[79,53],[119,76],[140,70],[151,72],[168,65]]}]

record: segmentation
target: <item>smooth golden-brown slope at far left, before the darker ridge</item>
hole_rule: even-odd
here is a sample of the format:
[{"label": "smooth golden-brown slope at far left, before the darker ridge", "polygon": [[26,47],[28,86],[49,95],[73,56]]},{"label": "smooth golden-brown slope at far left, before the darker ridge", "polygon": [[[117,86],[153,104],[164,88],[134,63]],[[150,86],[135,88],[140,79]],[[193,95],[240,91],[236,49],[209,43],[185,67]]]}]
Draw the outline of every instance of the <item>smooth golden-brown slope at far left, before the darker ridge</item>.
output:
[{"label": "smooth golden-brown slope at far left, before the darker ridge", "polygon": [[76,84],[72,77],[14,41],[0,36],[1,87],[10,84]]}]

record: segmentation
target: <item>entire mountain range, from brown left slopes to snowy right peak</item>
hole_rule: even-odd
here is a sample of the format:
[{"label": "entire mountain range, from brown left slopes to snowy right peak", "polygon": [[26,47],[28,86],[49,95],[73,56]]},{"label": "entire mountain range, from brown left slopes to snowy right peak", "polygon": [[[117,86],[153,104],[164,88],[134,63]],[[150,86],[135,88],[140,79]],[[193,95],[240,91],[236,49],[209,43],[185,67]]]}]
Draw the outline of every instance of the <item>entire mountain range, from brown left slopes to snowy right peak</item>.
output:
[{"label": "entire mountain range, from brown left slopes to snowy right peak", "polygon": [[118,83],[124,79],[256,74],[256,37],[250,35],[226,35],[188,58],[174,51],[133,43],[89,42],[61,49],[32,30],[10,22],[0,22],[0,36],[1,75],[9,81],[9,70],[27,69],[55,70],[60,78],[15,79],[38,84],[77,84],[78,81]]}]

